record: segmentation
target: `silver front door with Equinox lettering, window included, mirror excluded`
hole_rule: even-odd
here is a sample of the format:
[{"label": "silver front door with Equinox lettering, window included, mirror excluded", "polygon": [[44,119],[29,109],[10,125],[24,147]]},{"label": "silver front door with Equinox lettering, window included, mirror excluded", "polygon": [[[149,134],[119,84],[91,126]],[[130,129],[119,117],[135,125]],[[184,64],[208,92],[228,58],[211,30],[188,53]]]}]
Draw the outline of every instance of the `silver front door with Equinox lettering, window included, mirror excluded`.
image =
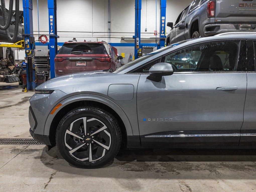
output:
[{"label": "silver front door with Equinox lettering, window included, mirror excluded", "polygon": [[154,82],[142,73],[137,88],[142,146],[238,145],[247,89],[245,44],[190,45],[161,58],[173,66],[173,75]]}]

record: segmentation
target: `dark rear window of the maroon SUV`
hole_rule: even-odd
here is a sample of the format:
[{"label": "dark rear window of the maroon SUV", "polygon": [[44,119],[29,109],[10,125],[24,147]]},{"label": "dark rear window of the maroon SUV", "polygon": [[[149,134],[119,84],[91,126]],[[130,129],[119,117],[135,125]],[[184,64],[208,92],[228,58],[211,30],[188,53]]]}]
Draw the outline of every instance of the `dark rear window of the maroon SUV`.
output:
[{"label": "dark rear window of the maroon SUV", "polygon": [[71,54],[74,51],[82,51],[82,54],[108,54],[101,43],[67,43],[60,48],[59,54]]}]

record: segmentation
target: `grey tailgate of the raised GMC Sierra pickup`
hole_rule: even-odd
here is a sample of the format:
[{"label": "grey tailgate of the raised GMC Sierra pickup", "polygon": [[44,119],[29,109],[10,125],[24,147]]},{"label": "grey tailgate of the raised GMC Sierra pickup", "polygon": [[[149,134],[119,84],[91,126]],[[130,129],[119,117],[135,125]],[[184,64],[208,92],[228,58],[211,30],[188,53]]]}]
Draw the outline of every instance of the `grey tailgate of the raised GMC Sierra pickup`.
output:
[{"label": "grey tailgate of the raised GMC Sierra pickup", "polygon": [[216,23],[256,23],[256,0],[216,0]]}]

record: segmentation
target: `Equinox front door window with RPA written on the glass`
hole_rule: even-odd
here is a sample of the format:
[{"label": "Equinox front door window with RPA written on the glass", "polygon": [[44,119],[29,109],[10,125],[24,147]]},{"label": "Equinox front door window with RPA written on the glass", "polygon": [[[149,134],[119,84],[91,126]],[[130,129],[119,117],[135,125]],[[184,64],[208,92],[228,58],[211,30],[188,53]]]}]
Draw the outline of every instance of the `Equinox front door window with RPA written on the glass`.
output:
[{"label": "Equinox front door window with RPA written on the glass", "polygon": [[237,71],[240,41],[191,46],[164,57],[175,72]]}]

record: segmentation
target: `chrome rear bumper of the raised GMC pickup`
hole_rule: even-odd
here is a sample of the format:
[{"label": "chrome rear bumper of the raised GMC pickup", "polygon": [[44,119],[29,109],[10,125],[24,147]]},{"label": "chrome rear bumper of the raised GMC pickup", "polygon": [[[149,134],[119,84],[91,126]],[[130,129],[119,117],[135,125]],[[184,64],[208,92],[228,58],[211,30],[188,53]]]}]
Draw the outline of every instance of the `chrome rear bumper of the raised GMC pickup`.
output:
[{"label": "chrome rear bumper of the raised GMC pickup", "polygon": [[235,25],[232,23],[229,24],[208,24],[204,27],[204,36],[212,36],[217,35],[220,33],[228,33],[228,32],[256,32],[256,29],[254,30],[239,30],[236,29]]}]

